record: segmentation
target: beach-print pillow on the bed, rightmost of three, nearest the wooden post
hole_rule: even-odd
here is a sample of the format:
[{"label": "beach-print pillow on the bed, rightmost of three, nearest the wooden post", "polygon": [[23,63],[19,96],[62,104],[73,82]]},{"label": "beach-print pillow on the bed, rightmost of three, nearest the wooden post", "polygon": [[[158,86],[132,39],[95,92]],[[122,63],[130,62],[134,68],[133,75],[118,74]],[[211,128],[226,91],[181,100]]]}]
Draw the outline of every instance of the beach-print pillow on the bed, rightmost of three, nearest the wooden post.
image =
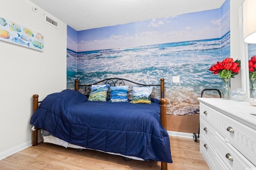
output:
[{"label": "beach-print pillow on the bed, rightmost of three, nearest the wooden post", "polygon": [[151,93],[153,87],[132,87],[132,101],[130,103],[146,103],[151,104]]}]

